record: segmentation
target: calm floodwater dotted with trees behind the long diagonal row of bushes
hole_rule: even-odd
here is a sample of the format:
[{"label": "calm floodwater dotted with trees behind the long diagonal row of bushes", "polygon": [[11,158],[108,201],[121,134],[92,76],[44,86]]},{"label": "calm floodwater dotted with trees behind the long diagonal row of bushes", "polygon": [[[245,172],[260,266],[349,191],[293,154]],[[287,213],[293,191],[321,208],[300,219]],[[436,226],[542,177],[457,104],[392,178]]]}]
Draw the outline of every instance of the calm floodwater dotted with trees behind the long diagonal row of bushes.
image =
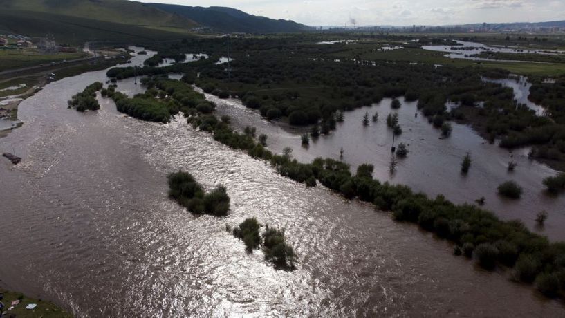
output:
[{"label": "calm floodwater dotted with trees behind the long diagonal row of bushes", "polygon": [[[516,83],[508,79],[508,83]],[[450,138],[442,139],[441,131],[416,109],[417,102],[405,102],[398,110],[391,109],[391,100],[355,109],[345,113],[345,120],[337,124],[337,130],[330,135],[311,140],[310,146],[301,147],[300,135],[304,129],[292,129],[268,122],[257,111],[246,109],[239,100],[220,100],[207,95],[219,105],[218,112],[232,117],[239,127],[257,127],[257,133],[268,135],[268,148],[278,153],[285,147],[293,149],[295,158],[311,162],[316,157],[340,159],[352,166],[352,171],[363,163],[375,166],[373,176],[381,181],[409,185],[415,191],[429,196],[444,194],[455,203],[475,203],[485,197],[485,208],[491,209],[503,219],[520,219],[531,230],[550,238],[565,240],[562,230],[565,224],[565,197],[548,196],[541,183],[544,178],[554,176],[557,171],[546,165],[528,159],[529,149],[508,151],[495,144],[489,144],[472,128],[452,123]],[[531,103],[531,102],[530,102]],[[371,119],[378,113],[378,121],[362,125],[365,113]],[[393,131],[387,127],[389,113],[398,113],[402,135],[396,138],[407,144],[407,158],[398,159],[396,171],[391,174],[391,146]],[[418,113],[417,117],[415,116]],[[460,173],[461,162],[466,153],[472,157],[472,166],[467,176]],[[515,171],[508,172],[508,162],[517,163]],[[497,187],[506,180],[515,180],[524,188],[521,200],[508,200],[497,194]],[[544,227],[537,227],[536,214],[546,209],[549,214]]]}]

